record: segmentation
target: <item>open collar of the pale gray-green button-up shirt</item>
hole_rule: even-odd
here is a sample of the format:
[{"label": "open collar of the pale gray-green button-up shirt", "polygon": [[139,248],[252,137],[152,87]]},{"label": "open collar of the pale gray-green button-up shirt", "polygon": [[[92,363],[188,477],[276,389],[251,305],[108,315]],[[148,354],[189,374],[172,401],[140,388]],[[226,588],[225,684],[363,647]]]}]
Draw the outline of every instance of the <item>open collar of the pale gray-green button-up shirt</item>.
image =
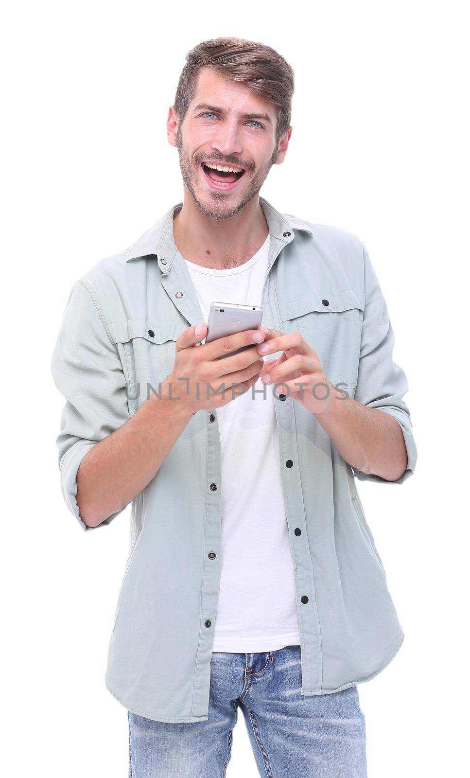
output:
[{"label": "open collar of the pale gray-green button-up shirt", "polygon": [[[296,219],[295,216],[290,214],[277,211],[271,203],[261,196],[259,201],[272,237],[288,244],[295,235],[294,228],[313,235],[310,225],[306,222]],[[180,211],[182,207],[183,203],[178,202],[153,227],[150,227],[146,233],[143,233],[139,240],[136,240],[135,244],[128,248],[125,261],[130,262],[133,259],[156,256],[159,260],[160,268],[167,273],[177,252],[174,242],[173,220],[176,212]]]}]

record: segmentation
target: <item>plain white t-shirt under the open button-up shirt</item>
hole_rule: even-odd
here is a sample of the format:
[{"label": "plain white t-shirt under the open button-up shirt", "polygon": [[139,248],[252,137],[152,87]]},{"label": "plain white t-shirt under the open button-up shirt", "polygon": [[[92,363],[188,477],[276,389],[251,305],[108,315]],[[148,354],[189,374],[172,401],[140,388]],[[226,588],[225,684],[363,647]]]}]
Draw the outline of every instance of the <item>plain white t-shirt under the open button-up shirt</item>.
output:
[{"label": "plain white t-shirt under the open button-up shirt", "polygon": [[[270,237],[237,268],[184,259],[208,321],[212,302],[261,305]],[[282,493],[272,385],[258,378],[217,408],[221,444],[222,550],[212,650],[256,653],[300,645],[293,556]],[[261,390],[254,394],[252,389]]]}]

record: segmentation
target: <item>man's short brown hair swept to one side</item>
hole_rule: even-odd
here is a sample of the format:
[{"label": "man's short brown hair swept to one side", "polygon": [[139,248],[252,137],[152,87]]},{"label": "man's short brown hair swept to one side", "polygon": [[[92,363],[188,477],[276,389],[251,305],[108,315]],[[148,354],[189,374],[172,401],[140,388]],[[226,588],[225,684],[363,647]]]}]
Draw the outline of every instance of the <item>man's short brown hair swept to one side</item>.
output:
[{"label": "man's short brown hair swept to one side", "polygon": [[174,99],[178,121],[184,119],[195,96],[198,72],[213,68],[229,81],[244,83],[252,92],[274,103],[275,147],[289,129],[294,90],[293,68],[270,46],[243,38],[213,38],[188,51]]}]

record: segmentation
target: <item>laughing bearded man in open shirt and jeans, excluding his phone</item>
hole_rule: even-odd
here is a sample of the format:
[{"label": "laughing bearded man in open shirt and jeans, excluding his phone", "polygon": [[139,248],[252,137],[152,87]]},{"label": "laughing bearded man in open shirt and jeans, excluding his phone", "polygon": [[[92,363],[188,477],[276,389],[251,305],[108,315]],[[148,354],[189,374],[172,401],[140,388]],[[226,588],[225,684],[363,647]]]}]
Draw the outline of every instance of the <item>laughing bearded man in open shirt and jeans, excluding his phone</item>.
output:
[{"label": "laughing bearded man in open shirt and jeans, excluding his phone", "polygon": [[[261,775],[365,776],[357,684],[402,645],[355,477],[414,471],[408,387],[361,241],[259,196],[292,94],[270,47],[189,52],[184,202],[75,283],[54,351],[68,507],[132,503],[105,678],[132,776],[225,775],[239,706]],[[212,301],[262,331],[203,343]]]}]

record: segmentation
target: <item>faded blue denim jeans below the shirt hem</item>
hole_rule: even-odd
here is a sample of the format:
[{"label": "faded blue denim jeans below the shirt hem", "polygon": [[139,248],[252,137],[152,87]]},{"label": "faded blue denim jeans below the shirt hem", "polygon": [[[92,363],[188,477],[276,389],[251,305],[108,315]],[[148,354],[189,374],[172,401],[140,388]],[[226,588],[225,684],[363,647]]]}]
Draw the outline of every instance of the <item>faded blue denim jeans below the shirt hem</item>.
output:
[{"label": "faded blue denim jeans below the shirt hem", "polygon": [[367,778],[357,686],[301,696],[300,646],[214,652],[209,720],[171,724],[128,711],[129,778],[224,778],[240,707],[263,778]]}]

